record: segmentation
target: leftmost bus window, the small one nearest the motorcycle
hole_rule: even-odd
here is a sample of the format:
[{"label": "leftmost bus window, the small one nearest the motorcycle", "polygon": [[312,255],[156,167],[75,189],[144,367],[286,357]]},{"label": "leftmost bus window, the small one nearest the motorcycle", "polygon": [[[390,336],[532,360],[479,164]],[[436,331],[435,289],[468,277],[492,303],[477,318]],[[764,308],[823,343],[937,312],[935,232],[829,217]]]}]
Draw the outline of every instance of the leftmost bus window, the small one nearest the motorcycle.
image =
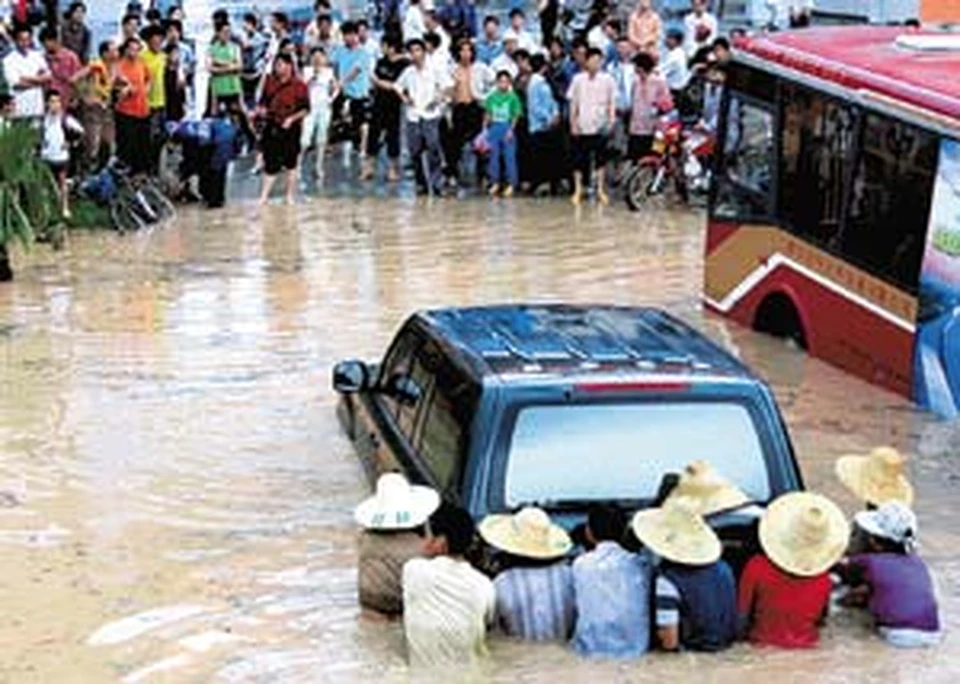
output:
[{"label": "leftmost bus window, the small one nearest the motorcycle", "polygon": [[774,117],[768,105],[731,92],[713,213],[723,219],[772,214]]}]

